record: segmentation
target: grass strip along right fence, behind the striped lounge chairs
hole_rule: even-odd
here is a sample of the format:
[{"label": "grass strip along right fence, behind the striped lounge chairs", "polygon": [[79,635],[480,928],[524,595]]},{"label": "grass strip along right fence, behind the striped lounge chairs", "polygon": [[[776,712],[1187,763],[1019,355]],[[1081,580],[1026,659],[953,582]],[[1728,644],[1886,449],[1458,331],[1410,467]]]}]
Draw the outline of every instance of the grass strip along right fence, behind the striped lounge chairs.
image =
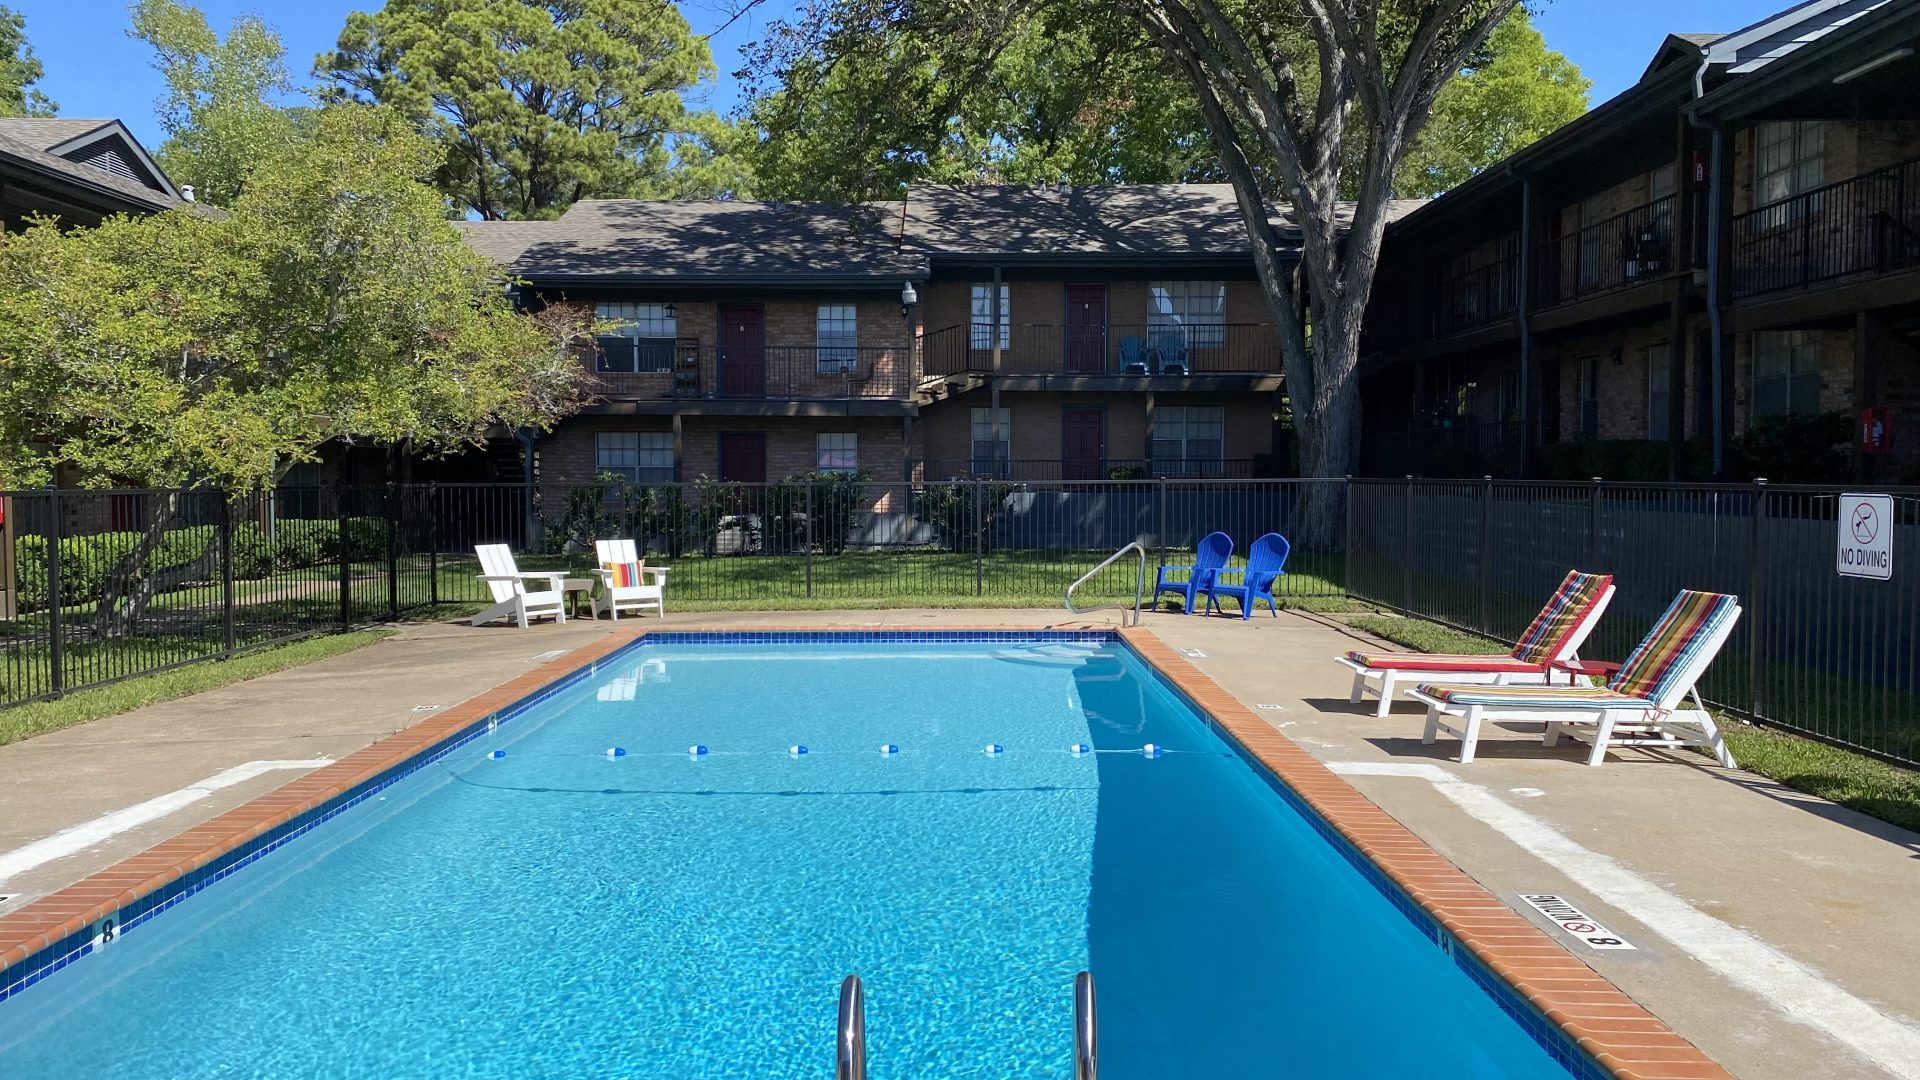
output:
[{"label": "grass strip along right fence, behind the striped lounge chairs", "polygon": [[[1425,619],[1357,615],[1348,625],[1427,653],[1507,651],[1503,642]],[[1738,717],[1722,715],[1720,730],[1741,769],[1920,832],[1920,773]]]}]

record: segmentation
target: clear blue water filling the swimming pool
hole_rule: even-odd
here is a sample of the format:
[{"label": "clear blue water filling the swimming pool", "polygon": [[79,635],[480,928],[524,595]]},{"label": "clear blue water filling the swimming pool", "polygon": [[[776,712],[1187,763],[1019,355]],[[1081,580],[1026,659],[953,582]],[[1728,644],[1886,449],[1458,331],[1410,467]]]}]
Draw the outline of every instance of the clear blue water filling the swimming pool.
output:
[{"label": "clear blue water filling the swimming pool", "polygon": [[1131,653],[1060,642],[622,653],[0,1003],[0,1074],[820,1078],[858,972],[876,1080],[1064,1078],[1083,969],[1104,1080],[1567,1076]]}]

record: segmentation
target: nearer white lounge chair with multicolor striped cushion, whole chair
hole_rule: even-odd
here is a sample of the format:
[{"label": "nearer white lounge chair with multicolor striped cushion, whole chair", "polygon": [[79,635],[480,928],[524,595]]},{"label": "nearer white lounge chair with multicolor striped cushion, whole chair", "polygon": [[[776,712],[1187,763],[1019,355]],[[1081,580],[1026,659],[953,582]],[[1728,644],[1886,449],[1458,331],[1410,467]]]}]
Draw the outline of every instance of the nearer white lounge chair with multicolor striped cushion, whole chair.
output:
[{"label": "nearer white lounge chair with multicolor striped cushion, whole chair", "polygon": [[1482,724],[1519,721],[1544,724],[1548,746],[1563,734],[1592,738],[1588,765],[1607,759],[1609,740],[1630,734],[1632,746],[1703,746],[1732,769],[1734,755],[1695,684],[1738,621],[1738,596],[1682,592],[1605,686],[1419,686],[1411,696],[1427,703],[1421,742],[1459,736],[1467,765]]}]

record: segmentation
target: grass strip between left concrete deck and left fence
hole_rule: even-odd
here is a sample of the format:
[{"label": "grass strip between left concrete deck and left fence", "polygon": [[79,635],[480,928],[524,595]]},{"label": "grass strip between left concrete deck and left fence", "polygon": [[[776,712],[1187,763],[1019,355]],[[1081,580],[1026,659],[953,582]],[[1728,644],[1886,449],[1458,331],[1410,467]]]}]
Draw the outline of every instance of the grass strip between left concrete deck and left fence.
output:
[{"label": "grass strip between left concrete deck and left fence", "polygon": [[111,717],[140,705],[169,701],[202,690],[213,690],[246,678],[257,678],[288,667],[300,667],[330,655],[353,651],[388,638],[392,630],[355,630],[351,634],[328,634],[305,638],[284,646],[265,648],[223,663],[196,663],[157,675],[129,678],[111,686],[79,690],[54,701],[33,701],[17,709],[0,711],[0,746],[19,742],[36,734],[71,728],[100,717]]}]

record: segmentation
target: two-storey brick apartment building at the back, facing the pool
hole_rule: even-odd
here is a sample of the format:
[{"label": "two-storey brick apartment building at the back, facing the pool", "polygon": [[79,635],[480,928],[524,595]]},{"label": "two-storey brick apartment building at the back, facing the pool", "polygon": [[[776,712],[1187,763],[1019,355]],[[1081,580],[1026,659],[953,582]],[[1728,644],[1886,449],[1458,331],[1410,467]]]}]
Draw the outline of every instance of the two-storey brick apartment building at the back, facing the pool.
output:
[{"label": "two-storey brick apartment building at the back, facing the pool", "polygon": [[597,400],[507,448],[541,482],[1283,469],[1279,342],[1225,184],[589,200],[461,227],[524,307],[611,327],[582,357]]}]

